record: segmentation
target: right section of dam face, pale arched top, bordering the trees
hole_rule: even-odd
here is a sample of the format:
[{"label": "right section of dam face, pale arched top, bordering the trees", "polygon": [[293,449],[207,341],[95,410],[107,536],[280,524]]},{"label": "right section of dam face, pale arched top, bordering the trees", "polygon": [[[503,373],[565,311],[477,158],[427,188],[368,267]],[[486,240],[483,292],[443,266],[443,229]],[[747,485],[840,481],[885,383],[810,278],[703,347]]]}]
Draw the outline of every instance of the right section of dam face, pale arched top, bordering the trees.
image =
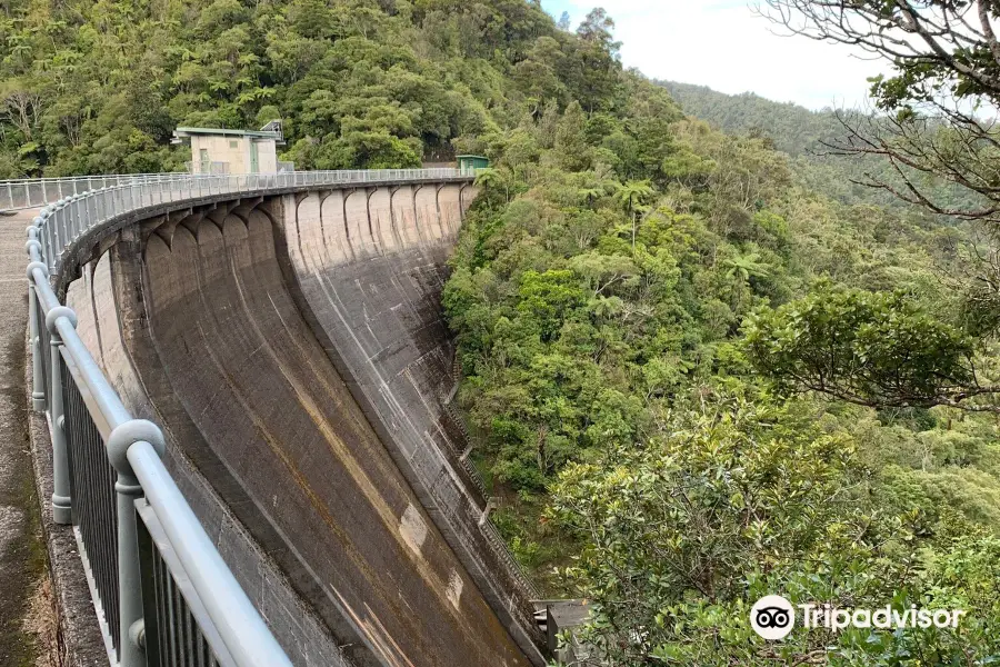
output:
[{"label": "right section of dam face, pale arched top, bordering the trees", "polygon": [[301,311],[518,645],[544,664],[526,587],[480,525],[482,498],[459,465],[464,442],[442,405],[453,386],[453,350],[441,288],[470,193],[403,186],[287,196],[276,215]]}]

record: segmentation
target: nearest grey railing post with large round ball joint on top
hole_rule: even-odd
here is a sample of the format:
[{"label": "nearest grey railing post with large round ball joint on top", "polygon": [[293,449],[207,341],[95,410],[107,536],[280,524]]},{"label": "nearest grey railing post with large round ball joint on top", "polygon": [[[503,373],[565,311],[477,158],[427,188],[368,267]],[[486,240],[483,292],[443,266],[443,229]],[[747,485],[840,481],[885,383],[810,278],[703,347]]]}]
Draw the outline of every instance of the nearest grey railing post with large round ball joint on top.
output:
[{"label": "nearest grey railing post with large round ball joint on top", "polygon": [[146,627],[142,618],[142,581],[139,574],[139,532],[136,524],[136,499],[142,487],[128,459],[136,442],[149,442],[160,458],[166,451],[163,431],[144,419],[132,419],[116,427],[108,437],[108,459],[118,472],[118,591],[119,646],[121,667],[146,666]]}]

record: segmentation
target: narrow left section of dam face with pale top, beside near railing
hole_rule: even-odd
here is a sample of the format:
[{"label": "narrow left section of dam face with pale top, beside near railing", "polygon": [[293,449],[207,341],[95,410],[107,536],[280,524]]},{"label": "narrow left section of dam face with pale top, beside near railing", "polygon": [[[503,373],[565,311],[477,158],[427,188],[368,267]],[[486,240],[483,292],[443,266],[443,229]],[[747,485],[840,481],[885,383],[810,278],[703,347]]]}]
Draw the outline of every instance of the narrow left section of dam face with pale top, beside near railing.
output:
[{"label": "narrow left section of dam face with pale top, beside near railing", "polygon": [[288,557],[281,536],[214,456],[174,395],[147,326],[139,243],[130,239],[134,231],[126,230],[124,240],[83,267],[81,278],[69,286],[67,300],[78,313],[81,338],[129,411],[169,426],[164,462],[171,477],[292,663],[363,664],[354,646],[331,633],[341,617],[321,618],[319,609],[303,604],[289,580],[301,565]]}]

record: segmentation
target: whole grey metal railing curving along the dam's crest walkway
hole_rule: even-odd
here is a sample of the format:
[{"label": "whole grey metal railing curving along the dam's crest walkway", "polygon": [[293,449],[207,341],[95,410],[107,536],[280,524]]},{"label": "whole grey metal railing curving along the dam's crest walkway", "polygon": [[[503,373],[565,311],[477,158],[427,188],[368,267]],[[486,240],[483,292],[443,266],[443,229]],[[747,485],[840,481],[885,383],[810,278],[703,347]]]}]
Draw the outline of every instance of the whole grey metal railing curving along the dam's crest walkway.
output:
[{"label": "whole grey metal railing curving along the dam's crest walkway", "polygon": [[[52,516],[72,525],[108,645],[122,667],[291,663],[170,477],[164,438],[134,419],[77,335],[53,283],[89,232],[164,202],[310,186],[469,179],[458,169],[93,177],[0,182],[60,197],[28,228],[32,405],[52,439]],[[53,185],[56,183],[56,185]],[[31,200],[34,201],[33,199]],[[2,206],[2,202],[0,202]]]}]

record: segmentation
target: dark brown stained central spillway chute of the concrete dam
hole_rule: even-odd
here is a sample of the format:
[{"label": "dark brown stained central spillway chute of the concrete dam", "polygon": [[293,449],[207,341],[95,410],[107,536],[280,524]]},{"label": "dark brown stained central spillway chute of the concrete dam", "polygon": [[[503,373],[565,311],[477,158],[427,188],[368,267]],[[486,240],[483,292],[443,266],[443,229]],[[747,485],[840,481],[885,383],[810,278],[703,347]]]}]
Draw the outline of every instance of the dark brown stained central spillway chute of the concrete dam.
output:
[{"label": "dark brown stained central spillway chute of the concrete dam", "polygon": [[[359,236],[361,230],[359,230]],[[160,360],[204,440],[390,665],[524,664],[288,292],[260,210],[150,239]]]}]

